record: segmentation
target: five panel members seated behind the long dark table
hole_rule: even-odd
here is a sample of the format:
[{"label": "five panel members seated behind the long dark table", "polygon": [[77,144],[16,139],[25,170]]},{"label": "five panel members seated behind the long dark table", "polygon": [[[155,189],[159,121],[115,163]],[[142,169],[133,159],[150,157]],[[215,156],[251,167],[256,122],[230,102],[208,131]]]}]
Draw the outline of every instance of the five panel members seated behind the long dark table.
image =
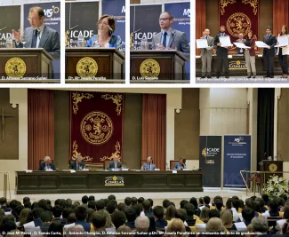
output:
[{"label": "five panel members seated behind the long dark table", "polygon": [[[71,161],[69,163],[69,170],[84,170],[85,163],[83,162],[83,157],[80,154],[76,155],[76,160]],[[123,165],[122,162],[119,162],[119,158],[117,155],[113,156],[113,160],[109,162],[107,170],[122,170]],[[153,159],[151,156],[147,158],[147,162],[143,163],[141,170],[156,170],[157,165],[153,163]],[[181,158],[179,162],[177,162],[173,170],[184,170],[187,169],[185,159]],[[42,171],[46,170],[56,170],[54,163],[52,163],[52,159],[49,156],[44,157],[44,162],[40,164],[39,169]]]}]

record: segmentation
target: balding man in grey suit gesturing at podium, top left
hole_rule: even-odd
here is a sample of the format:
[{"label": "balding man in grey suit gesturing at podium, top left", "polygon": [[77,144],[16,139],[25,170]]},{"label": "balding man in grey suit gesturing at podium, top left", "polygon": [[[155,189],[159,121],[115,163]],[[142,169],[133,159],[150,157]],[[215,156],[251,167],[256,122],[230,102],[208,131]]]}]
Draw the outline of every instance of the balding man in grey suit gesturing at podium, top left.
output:
[{"label": "balding man in grey suit gesturing at podium, top left", "polygon": [[12,30],[16,48],[44,48],[53,59],[60,59],[60,36],[56,30],[44,24],[44,10],[37,6],[30,8],[28,20],[31,27],[24,29],[23,34],[27,36],[25,44],[20,42],[20,30]]}]

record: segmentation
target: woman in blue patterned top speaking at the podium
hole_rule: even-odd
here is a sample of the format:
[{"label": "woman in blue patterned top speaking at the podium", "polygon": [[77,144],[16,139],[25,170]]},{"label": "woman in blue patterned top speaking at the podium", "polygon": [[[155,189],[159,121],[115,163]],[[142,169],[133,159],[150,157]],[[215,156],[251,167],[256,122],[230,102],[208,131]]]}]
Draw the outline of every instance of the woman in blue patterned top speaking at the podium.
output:
[{"label": "woman in blue patterned top speaking at the podium", "polygon": [[124,51],[120,36],[113,36],[116,31],[116,21],[108,15],[103,15],[97,22],[98,35],[92,36],[85,47],[116,48]]}]

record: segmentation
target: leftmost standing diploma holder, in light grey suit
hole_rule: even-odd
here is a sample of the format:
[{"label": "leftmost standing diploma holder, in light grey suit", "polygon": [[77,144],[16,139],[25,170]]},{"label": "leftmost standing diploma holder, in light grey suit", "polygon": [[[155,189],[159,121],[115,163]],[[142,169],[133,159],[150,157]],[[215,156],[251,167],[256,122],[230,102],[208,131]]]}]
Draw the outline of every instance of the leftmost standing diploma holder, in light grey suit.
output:
[{"label": "leftmost standing diploma holder, in light grey suit", "polygon": [[213,37],[210,36],[210,29],[206,28],[203,32],[203,37],[201,39],[206,39],[208,43],[208,48],[201,49],[202,58],[202,77],[211,78],[211,66],[212,66],[212,56],[213,56]]}]

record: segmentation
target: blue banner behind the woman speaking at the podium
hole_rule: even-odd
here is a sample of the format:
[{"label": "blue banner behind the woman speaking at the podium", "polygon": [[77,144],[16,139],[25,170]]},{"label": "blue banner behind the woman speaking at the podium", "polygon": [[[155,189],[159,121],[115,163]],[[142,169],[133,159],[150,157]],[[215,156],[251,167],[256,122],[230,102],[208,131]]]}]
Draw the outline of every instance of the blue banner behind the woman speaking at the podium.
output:
[{"label": "blue banner behind the woman speaking at the podium", "polygon": [[115,36],[122,39],[125,49],[125,0],[102,0],[102,15],[108,14],[116,21]]}]

